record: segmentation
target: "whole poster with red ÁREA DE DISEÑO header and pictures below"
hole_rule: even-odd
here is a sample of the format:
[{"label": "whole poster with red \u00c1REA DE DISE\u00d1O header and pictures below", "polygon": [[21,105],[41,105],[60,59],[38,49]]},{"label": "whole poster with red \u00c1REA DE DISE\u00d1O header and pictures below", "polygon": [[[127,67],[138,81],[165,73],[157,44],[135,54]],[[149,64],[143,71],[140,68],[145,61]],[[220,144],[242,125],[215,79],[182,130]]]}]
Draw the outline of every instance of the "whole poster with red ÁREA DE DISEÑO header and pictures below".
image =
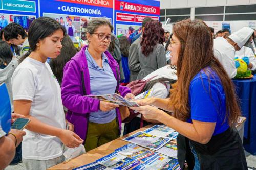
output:
[{"label": "whole poster with red \u00c1REA DE DISE\u00d1O header and pictures below", "polygon": [[160,1],[157,0],[115,0],[115,34],[131,41],[142,32],[145,17],[159,20],[159,14]]}]

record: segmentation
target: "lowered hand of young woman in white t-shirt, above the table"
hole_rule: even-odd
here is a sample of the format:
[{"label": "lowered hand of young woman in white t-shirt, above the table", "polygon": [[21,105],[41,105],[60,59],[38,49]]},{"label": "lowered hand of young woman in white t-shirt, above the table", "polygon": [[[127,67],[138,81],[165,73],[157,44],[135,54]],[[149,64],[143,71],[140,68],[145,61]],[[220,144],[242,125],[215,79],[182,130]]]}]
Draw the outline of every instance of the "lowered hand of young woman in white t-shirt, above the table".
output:
[{"label": "lowered hand of young woman in white t-shirt, above the table", "polygon": [[83,142],[77,134],[66,129],[61,129],[59,138],[69,148],[78,147]]}]

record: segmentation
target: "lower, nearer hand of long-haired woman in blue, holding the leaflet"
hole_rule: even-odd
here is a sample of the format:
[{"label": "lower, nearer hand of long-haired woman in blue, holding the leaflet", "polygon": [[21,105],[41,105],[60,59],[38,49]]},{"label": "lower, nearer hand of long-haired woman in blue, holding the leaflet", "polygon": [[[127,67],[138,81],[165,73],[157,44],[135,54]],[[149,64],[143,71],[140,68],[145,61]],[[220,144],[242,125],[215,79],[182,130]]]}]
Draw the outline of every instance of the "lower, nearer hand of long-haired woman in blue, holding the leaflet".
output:
[{"label": "lower, nearer hand of long-haired woman in blue, holding the leaflet", "polygon": [[[154,106],[129,107],[143,114],[144,118],[159,121],[160,115],[164,114],[162,110]],[[167,113],[166,113],[167,114]],[[160,122],[160,121],[159,121]]]}]

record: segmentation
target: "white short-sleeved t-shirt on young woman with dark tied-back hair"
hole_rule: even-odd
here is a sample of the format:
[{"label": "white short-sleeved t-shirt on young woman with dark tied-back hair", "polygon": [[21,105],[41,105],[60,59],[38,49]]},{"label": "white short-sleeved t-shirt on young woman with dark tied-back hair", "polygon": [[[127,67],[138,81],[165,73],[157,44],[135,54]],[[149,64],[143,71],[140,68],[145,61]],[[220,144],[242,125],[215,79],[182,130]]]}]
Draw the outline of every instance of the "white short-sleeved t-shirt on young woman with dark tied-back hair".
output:
[{"label": "white short-sleeved t-shirt on young woman with dark tied-back hair", "polygon": [[[12,76],[13,100],[31,100],[30,115],[41,122],[65,129],[60,86],[49,64],[27,57]],[[25,130],[22,156],[49,160],[62,155],[62,142],[55,136]]]}]

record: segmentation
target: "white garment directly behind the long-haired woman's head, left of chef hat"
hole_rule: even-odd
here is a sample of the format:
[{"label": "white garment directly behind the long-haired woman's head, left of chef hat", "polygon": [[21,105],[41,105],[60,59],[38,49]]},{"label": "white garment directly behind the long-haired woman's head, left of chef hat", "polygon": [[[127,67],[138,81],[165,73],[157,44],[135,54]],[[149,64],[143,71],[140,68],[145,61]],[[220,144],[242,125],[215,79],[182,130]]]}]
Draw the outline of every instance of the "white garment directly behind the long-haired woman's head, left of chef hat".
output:
[{"label": "white garment directly behind the long-haired woman's head, left of chef hat", "polygon": [[223,37],[214,39],[214,56],[223,65],[230,79],[237,75],[237,68],[234,63],[234,47]]}]

